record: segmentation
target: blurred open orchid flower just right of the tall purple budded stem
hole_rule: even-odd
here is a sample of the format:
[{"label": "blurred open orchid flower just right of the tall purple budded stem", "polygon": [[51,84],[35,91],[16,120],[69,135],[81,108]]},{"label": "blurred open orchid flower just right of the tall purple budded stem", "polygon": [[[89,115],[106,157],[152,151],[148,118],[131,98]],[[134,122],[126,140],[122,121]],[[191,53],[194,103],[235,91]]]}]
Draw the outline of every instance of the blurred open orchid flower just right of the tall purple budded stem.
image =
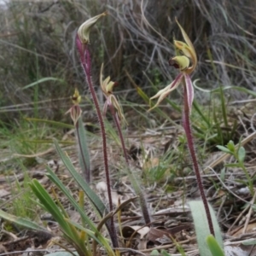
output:
[{"label": "blurred open orchid flower just right of the tall purple budded stem", "polygon": [[100,74],[100,83],[102,87],[102,92],[106,97],[106,102],[103,107],[103,113],[106,114],[108,107],[114,108],[118,115],[119,121],[127,125],[127,122],[125,120],[125,115],[123,113],[123,109],[121,108],[117,98],[113,95],[113,87],[116,86],[117,83],[110,81],[109,76],[107,79],[103,80],[103,64],[102,64],[101,74]]}]

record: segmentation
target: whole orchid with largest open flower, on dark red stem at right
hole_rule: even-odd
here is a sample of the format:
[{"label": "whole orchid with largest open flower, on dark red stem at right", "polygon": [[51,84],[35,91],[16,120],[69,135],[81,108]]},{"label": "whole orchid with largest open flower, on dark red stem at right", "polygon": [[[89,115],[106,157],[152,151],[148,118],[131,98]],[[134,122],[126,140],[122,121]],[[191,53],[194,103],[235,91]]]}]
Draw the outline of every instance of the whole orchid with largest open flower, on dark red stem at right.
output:
[{"label": "whole orchid with largest open flower, on dark red stem at right", "polygon": [[187,137],[189,153],[192,159],[195,176],[198,183],[198,188],[201,193],[201,199],[204,205],[204,209],[206,211],[209,230],[212,236],[214,236],[212,216],[210,213],[210,208],[207,203],[207,197],[203,189],[200,168],[195,154],[194,141],[190,125],[190,113],[192,111],[192,103],[194,100],[194,88],[192,81],[190,79],[190,74],[195,71],[195,67],[197,65],[197,57],[195,54],[194,46],[191,43],[187,33],[183,30],[183,27],[178,23],[177,20],[176,22],[182,32],[185,43],[176,40],[174,41],[174,45],[182,55],[177,55],[171,58],[169,64],[179,69],[180,73],[177,74],[176,79],[174,79],[174,81],[171,84],[167,85],[166,88],[160,90],[156,95],[150,98],[150,100],[158,98],[158,101],[156,102],[154,107],[150,108],[149,110],[152,110],[155,107],[157,107],[160,104],[160,102],[162,102],[172,90],[175,90],[179,84],[183,84],[183,128]]}]

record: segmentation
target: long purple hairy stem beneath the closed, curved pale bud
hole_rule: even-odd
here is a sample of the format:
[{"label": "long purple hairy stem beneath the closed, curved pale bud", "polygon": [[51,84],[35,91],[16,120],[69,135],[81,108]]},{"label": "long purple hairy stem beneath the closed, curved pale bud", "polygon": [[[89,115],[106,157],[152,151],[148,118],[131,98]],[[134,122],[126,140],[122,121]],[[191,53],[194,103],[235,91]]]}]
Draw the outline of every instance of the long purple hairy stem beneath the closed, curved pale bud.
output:
[{"label": "long purple hairy stem beneath the closed, curved pale bud", "polygon": [[[78,42],[79,37],[77,36],[77,43],[81,44]],[[113,201],[112,201],[112,195],[111,195],[111,185],[110,185],[110,177],[109,177],[109,171],[108,171],[108,152],[107,152],[107,137],[106,137],[106,131],[105,131],[105,125],[103,122],[102,118],[102,112],[101,108],[96,96],[96,91],[94,90],[91,77],[90,77],[90,67],[91,67],[91,60],[90,60],[90,51],[88,49],[88,45],[82,45],[82,47],[78,47],[79,49],[79,54],[81,58],[81,63],[82,67],[84,68],[84,73],[85,73],[85,78],[87,81],[87,84],[89,85],[90,89],[90,94],[92,97],[92,100],[94,102],[95,108],[96,108],[96,113],[97,117],[99,120],[100,124],[100,129],[102,131],[102,150],[103,150],[103,161],[104,161],[104,168],[105,168],[105,174],[106,174],[106,182],[107,182],[107,189],[108,189],[108,204],[109,204],[109,211],[113,211]],[[118,244],[118,239],[117,239],[117,234],[116,230],[114,227],[113,223],[113,217],[110,218],[110,227],[109,227],[109,235],[111,236],[112,242],[113,242],[113,247],[119,247]]]}]

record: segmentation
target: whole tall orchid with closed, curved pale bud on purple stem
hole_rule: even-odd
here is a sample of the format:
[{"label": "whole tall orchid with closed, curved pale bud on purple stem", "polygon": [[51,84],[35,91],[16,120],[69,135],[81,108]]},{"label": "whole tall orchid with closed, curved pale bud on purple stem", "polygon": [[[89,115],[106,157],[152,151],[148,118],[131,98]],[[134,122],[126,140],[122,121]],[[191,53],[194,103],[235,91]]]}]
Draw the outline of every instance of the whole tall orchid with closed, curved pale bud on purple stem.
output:
[{"label": "whole tall orchid with closed, curved pale bud on purple stem", "polygon": [[[105,131],[105,125],[102,117],[101,108],[99,102],[97,100],[96,91],[94,90],[94,86],[91,79],[91,59],[90,59],[90,29],[92,26],[96,24],[96,21],[99,20],[102,16],[107,15],[107,12],[102,13],[101,15],[96,15],[95,17],[86,20],[80,27],[76,36],[76,44],[79,49],[80,61],[82,67],[84,69],[85,79],[89,86],[90,94],[92,97],[92,101],[96,108],[96,114],[98,117],[98,121],[100,124],[100,129],[102,131],[102,151],[103,151],[103,161],[104,161],[104,169],[106,175],[106,183],[108,189],[108,205],[109,211],[113,211],[113,201],[111,196],[111,184],[110,184],[110,176],[108,170],[108,152],[107,152],[107,137]],[[110,236],[112,238],[113,247],[118,247],[118,239],[116,230],[113,223],[113,217],[110,218]]]}]

